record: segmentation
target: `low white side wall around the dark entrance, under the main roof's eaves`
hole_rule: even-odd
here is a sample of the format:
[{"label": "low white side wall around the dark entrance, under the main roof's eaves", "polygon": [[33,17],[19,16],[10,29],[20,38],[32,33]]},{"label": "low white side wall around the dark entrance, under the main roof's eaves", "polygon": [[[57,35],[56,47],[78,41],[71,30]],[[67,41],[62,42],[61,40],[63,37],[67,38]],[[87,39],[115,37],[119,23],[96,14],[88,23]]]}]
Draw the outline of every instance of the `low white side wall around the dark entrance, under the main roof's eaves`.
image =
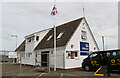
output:
[{"label": "low white side wall around the dark entrance, under the main roof's eaves", "polygon": [[[36,51],[37,53],[39,52],[44,52],[44,51],[49,51],[50,52],[50,55],[49,55],[49,62],[50,62],[50,67],[54,67],[54,51],[53,51],[53,48],[50,48],[50,49],[43,49],[43,50],[39,50],[39,51]],[[51,51],[53,51],[53,54],[51,54]],[[65,57],[64,57],[64,53],[65,53],[65,48],[64,47],[58,47],[57,48],[57,51],[56,51],[56,68],[61,68],[63,69],[64,68],[64,60],[65,60]],[[41,60],[41,56],[39,56],[40,58],[37,58],[37,60]],[[37,63],[41,66],[40,63]]]}]

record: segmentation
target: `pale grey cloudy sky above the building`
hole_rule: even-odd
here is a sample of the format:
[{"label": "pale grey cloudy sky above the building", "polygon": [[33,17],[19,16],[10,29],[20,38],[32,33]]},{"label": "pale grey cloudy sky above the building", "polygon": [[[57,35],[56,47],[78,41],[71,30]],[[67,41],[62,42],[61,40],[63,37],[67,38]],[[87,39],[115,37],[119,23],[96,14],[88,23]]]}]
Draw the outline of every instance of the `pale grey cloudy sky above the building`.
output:
[{"label": "pale grey cloudy sky above the building", "polygon": [[[53,27],[51,16],[53,2],[3,2],[2,3],[2,50],[14,50],[15,38],[18,45],[24,37],[40,30]],[[56,2],[58,14],[56,25],[85,17],[102,50],[101,36],[105,36],[105,48],[118,48],[118,3],[117,2]]]}]

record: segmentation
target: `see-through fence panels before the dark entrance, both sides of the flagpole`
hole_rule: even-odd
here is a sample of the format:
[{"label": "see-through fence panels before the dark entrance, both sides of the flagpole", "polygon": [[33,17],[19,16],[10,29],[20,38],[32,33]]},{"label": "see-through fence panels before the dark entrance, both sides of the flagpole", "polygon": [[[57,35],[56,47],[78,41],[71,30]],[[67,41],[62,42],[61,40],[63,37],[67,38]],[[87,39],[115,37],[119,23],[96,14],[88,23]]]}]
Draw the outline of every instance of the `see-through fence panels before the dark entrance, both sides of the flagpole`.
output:
[{"label": "see-through fence panels before the dark entrance, both sides of the flagpole", "polygon": [[[50,53],[38,53],[36,54],[35,58],[35,65],[36,66],[46,66],[48,72],[50,69],[54,68],[54,54]],[[56,55],[56,65],[58,68],[65,68],[65,60],[64,60],[64,54],[57,54]]]}]

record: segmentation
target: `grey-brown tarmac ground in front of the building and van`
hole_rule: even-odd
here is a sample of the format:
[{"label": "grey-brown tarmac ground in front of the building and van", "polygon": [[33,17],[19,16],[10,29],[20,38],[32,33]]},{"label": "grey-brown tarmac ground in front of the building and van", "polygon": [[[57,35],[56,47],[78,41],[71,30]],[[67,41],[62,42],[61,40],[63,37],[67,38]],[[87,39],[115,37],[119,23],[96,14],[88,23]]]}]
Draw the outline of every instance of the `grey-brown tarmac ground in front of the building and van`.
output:
[{"label": "grey-brown tarmac ground in front of the building and van", "polygon": [[[21,66],[19,64],[4,63],[2,64],[2,78],[108,78],[105,76],[94,76],[94,71],[74,70],[53,70],[50,73],[38,71],[33,66]],[[112,71],[111,78],[120,78],[120,71]]]}]

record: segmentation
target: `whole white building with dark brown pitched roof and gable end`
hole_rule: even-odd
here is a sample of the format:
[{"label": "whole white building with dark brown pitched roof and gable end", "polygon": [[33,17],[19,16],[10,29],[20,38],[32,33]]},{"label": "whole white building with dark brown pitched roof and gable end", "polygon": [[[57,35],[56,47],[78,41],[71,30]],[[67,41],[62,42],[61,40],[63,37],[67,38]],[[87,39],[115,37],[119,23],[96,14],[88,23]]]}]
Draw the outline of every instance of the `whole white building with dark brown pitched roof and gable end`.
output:
[{"label": "whole white building with dark brown pitched roof and gable end", "polygon": [[[16,49],[22,54],[21,63],[28,65],[44,64],[49,54],[50,67],[54,67],[53,28],[33,33]],[[72,69],[81,63],[91,52],[98,51],[98,45],[86,19],[80,18],[56,27],[56,67]]]}]

